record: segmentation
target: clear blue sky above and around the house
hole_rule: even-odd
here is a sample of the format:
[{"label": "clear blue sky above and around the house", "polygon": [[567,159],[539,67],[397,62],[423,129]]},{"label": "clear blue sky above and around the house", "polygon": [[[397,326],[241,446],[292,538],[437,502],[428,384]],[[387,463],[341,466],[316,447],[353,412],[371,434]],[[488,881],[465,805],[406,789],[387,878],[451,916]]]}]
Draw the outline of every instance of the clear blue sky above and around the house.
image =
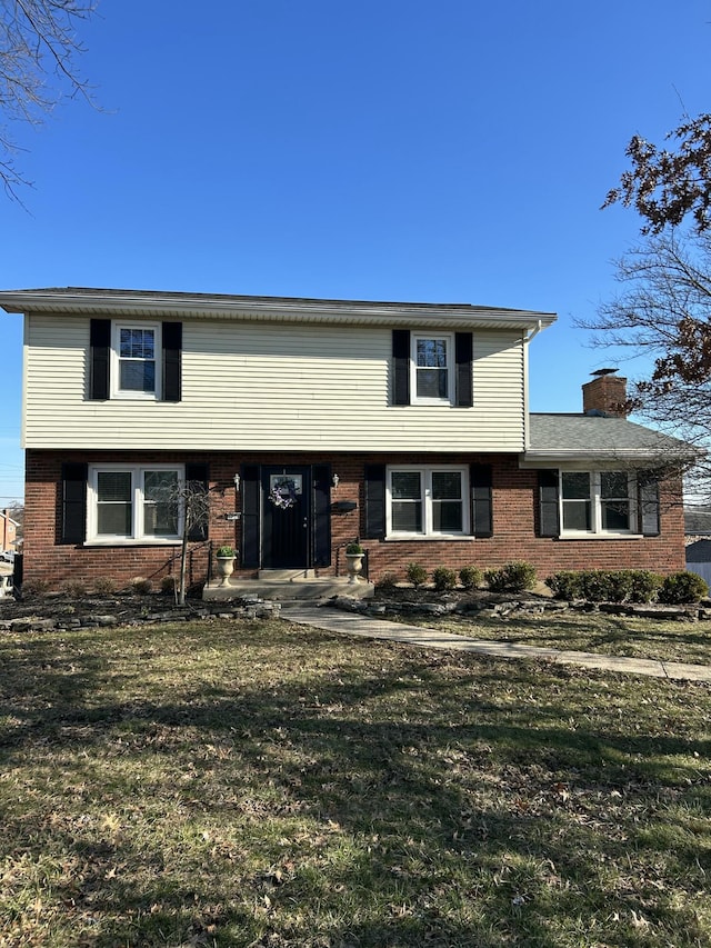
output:
[{"label": "clear blue sky above and around the house", "polygon": [[[573,319],[614,291],[633,133],[708,111],[711,8],[687,0],[102,0],[101,109],[17,127],[2,289],[116,287],[554,311],[531,408],[580,410],[611,356]],[[21,318],[0,311],[0,506],[22,496]],[[628,367],[629,375],[633,369]]]}]

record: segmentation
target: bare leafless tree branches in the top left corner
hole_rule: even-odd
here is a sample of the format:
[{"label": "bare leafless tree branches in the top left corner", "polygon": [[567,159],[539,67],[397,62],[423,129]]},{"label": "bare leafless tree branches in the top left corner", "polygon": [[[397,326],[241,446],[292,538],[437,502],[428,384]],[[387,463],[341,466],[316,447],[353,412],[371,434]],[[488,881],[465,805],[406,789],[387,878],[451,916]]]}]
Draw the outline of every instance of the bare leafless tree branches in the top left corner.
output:
[{"label": "bare leafless tree branches in the top left corner", "polygon": [[64,94],[89,99],[74,27],[96,8],[97,0],[0,0],[0,180],[14,199],[29,182],[10,124],[40,123]]}]

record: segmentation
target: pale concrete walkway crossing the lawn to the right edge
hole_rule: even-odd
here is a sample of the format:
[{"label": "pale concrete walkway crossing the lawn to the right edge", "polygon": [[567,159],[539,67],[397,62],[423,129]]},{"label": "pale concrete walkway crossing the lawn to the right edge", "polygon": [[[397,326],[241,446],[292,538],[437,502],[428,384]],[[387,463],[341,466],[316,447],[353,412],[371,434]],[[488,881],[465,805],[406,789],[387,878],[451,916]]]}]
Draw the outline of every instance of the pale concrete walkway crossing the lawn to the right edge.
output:
[{"label": "pale concrete walkway crossing the lawn to the right edge", "polygon": [[711,666],[684,665],[680,661],[657,661],[645,658],[621,658],[612,655],[595,655],[589,651],[558,651],[552,648],[469,639],[465,636],[440,632],[437,629],[405,626],[401,622],[389,622],[385,619],[372,619],[357,612],[341,612],[328,607],[314,609],[313,607],[298,606],[282,612],[282,617],[290,622],[313,626],[329,632],[405,642],[421,648],[472,651],[492,658],[539,658],[559,665],[578,665],[629,675],[650,675],[653,678],[711,681]]}]

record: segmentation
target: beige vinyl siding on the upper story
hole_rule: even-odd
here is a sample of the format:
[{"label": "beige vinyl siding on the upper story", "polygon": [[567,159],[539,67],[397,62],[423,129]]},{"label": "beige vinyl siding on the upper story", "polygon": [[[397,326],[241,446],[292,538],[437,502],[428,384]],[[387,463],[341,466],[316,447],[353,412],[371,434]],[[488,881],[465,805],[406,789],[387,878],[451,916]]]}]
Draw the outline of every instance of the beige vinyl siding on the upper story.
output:
[{"label": "beige vinyl siding on the upper story", "polygon": [[182,401],[87,399],[89,320],[29,317],[26,447],[523,448],[523,343],[474,332],[474,406],[390,405],[387,327],[184,321]]}]

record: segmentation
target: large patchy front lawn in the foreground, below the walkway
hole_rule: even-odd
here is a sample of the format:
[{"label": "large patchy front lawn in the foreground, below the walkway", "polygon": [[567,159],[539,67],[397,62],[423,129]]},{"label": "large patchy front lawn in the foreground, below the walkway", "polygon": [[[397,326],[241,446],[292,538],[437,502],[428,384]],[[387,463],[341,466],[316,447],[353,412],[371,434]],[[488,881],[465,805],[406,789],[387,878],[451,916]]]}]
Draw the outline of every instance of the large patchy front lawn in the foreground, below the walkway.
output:
[{"label": "large patchy front lawn in the foreground, below the walkway", "polygon": [[711,941],[707,685],[278,620],[0,662],[2,948]]}]

